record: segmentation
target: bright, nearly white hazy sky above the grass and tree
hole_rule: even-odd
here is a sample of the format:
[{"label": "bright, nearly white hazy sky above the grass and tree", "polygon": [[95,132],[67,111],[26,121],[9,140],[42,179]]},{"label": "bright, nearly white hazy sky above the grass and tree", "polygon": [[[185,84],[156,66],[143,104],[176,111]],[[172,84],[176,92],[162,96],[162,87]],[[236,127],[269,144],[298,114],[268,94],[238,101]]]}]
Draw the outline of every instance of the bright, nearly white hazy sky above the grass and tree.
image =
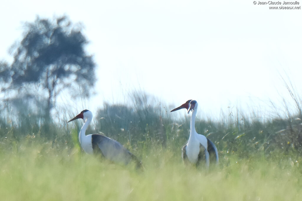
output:
[{"label": "bright, nearly white hazy sky above the grass and tree", "polygon": [[283,98],[293,104],[282,77],[302,91],[302,11],[269,6],[252,0],[5,1],[0,60],[12,61],[9,48],[22,39],[24,22],[66,14],[85,27],[87,52],[97,64],[96,95],[84,105],[70,101],[79,111],[125,103],[127,93],[143,90],[169,109],[195,99],[205,116],[228,107],[269,114],[271,102],[281,110]]}]

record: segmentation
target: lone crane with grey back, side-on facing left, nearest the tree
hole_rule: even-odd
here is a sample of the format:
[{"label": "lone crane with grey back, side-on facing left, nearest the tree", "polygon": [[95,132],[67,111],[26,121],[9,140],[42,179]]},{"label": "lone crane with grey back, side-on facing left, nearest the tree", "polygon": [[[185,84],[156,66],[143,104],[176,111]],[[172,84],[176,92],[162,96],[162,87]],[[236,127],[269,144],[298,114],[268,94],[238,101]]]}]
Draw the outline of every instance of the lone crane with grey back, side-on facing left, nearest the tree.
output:
[{"label": "lone crane with grey back, side-on facing left, nearest the tree", "polygon": [[85,135],[85,131],[92,120],[91,111],[83,110],[68,122],[74,121],[76,119],[83,119],[84,121],[84,125],[82,126],[79,133],[79,141],[82,149],[86,153],[100,154],[101,156],[112,162],[123,163],[125,165],[127,165],[131,161],[134,161],[138,168],[142,167],[140,160],[137,159],[137,157],[133,153],[127,150],[118,141],[100,134]]}]

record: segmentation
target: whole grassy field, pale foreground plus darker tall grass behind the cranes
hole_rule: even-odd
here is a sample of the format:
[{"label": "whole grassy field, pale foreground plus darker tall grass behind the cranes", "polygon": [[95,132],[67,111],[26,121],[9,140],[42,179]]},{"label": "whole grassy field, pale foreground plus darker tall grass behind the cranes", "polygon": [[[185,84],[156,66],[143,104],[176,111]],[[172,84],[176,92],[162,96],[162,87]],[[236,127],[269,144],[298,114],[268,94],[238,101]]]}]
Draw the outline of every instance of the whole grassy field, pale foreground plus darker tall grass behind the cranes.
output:
[{"label": "whole grassy field, pale foreground plus darker tall grass behind the cranes", "polygon": [[[232,108],[221,121],[198,119],[198,133],[219,150],[219,165],[207,171],[182,163],[189,117],[175,119],[154,98],[133,96],[135,107],[104,104],[87,132],[120,141],[142,160],[144,171],[83,153],[77,139],[82,122],[66,125],[72,117],[68,110],[56,123],[30,110],[10,113],[0,119],[1,199],[302,199],[299,110],[296,116],[265,122]],[[7,105],[1,111],[12,109]],[[43,127],[47,123],[48,130]]]}]

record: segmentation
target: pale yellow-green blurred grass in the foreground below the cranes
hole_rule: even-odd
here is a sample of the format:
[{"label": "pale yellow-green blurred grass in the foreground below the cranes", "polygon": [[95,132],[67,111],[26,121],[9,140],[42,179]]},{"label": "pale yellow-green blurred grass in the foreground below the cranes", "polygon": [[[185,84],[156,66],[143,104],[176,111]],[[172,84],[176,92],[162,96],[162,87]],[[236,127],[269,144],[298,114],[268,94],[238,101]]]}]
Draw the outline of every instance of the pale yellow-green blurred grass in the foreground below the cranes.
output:
[{"label": "pale yellow-green blurred grass in the foreground below the cranes", "polygon": [[294,153],[220,153],[206,171],[185,166],[180,148],[154,148],[137,171],[37,139],[8,144],[0,149],[1,200],[302,200]]}]

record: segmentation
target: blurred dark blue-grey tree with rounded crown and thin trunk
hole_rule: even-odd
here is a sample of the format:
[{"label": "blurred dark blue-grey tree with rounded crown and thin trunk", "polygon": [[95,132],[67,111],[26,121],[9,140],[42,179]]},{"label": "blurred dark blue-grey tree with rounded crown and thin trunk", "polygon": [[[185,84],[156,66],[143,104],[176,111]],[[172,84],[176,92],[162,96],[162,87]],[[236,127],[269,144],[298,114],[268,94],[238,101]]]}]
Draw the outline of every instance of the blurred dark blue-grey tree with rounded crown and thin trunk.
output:
[{"label": "blurred dark blue-grey tree with rounded crown and thin trunk", "polygon": [[[50,110],[56,97],[64,89],[72,96],[89,96],[95,83],[95,63],[87,55],[84,47],[87,40],[82,34],[82,26],[74,26],[68,17],[54,20],[39,17],[33,23],[25,23],[24,38],[12,46],[14,60],[11,65],[0,63],[2,91],[16,90],[17,96],[26,88],[42,88],[46,96],[46,120],[50,120]],[[5,83],[5,84],[4,84]],[[78,93],[79,87],[82,89]],[[35,93],[35,92],[33,92]]]}]

